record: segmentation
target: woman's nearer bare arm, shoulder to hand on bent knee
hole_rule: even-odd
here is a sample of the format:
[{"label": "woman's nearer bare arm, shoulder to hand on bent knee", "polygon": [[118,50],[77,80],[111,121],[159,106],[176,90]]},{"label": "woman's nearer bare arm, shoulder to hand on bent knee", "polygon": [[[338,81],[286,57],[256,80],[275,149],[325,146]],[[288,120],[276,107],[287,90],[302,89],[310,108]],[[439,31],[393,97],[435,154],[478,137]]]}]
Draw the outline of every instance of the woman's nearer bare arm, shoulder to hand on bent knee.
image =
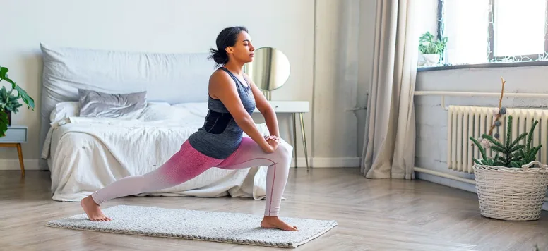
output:
[{"label": "woman's nearer bare arm, shoulder to hand on bent knee", "polygon": [[224,104],[234,121],[244,132],[251,137],[252,140],[265,152],[274,152],[273,146],[268,144],[263,135],[256,128],[253,118],[249,116],[242,100],[239,98],[234,80],[230,75],[223,71],[215,71],[209,80],[209,94],[213,98],[218,98]]}]

